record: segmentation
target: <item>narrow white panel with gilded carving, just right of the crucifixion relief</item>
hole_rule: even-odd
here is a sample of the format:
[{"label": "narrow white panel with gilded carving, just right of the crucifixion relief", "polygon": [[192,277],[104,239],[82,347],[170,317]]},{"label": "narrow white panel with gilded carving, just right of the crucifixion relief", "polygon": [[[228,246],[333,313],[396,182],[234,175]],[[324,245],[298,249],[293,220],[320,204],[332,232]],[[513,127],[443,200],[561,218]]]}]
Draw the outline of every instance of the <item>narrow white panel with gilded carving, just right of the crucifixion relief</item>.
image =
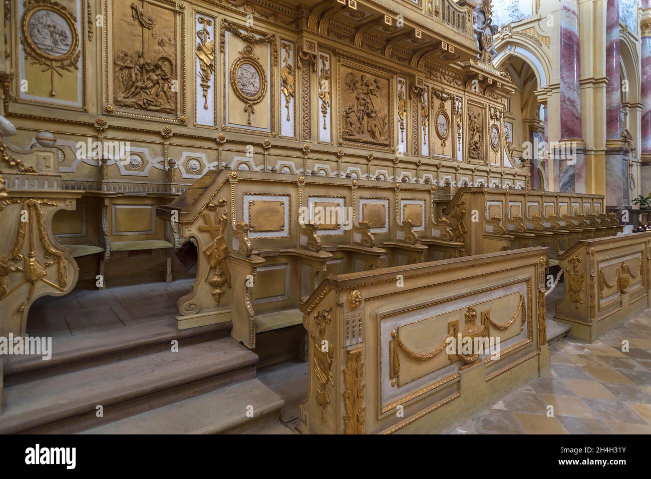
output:
[{"label": "narrow white panel with gilded carving, just right of the crucifixion relief", "polygon": [[215,18],[197,12],[196,120],[201,125],[215,125]]}]

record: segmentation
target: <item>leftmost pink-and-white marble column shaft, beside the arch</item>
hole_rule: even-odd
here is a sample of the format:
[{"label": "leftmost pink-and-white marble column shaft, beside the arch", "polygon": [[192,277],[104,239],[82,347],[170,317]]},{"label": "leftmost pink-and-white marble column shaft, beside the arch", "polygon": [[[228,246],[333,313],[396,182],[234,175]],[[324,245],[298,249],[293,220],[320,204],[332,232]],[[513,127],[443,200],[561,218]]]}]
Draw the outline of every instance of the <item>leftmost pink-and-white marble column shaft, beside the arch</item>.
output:
[{"label": "leftmost pink-and-white marble column shaft, beside the arch", "polygon": [[581,139],[578,0],[561,0],[561,140]]}]

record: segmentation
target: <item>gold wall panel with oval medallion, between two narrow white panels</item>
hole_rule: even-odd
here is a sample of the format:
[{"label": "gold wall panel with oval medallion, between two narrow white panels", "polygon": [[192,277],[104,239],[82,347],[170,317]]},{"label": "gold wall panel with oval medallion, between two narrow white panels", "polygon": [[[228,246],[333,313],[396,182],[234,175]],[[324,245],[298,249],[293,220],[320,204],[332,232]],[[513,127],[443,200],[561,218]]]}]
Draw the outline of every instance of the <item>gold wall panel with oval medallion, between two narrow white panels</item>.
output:
[{"label": "gold wall panel with oval medallion, between two narrow white panels", "polygon": [[[223,19],[225,53],[225,126],[252,131],[273,130],[271,53],[275,36],[243,30]],[[277,54],[277,52],[275,52]]]}]

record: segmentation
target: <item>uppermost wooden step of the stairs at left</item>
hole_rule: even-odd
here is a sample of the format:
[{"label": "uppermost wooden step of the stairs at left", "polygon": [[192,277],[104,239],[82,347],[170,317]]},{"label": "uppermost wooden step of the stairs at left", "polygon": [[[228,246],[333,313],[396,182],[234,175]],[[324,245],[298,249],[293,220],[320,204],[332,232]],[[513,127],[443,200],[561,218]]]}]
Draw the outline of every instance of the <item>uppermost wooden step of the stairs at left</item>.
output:
[{"label": "uppermost wooden step of the stairs at left", "polygon": [[167,319],[52,339],[52,357],[6,356],[5,385],[18,385],[44,377],[171,349],[172,340],[179,346],[225,338],[231,322],[178,331],[176,320]]}]

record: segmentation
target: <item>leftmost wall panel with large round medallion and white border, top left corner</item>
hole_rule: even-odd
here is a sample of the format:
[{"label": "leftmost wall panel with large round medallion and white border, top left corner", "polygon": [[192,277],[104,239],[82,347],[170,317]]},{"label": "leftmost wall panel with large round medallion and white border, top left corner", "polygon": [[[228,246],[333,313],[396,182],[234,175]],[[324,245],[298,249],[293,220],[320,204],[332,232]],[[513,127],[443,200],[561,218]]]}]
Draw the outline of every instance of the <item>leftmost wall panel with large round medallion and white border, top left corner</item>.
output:
[{"label": "leftmost wall panel with large round medallion and white border, top left corner", "polygon": [[[16,70],[29,88],[16,94],[25,100],[81,107],[85,103],[83,18],[81,1],[17,2],[16,32],[20,54]],[[9,8],[9,5],[5,5]]]}]

